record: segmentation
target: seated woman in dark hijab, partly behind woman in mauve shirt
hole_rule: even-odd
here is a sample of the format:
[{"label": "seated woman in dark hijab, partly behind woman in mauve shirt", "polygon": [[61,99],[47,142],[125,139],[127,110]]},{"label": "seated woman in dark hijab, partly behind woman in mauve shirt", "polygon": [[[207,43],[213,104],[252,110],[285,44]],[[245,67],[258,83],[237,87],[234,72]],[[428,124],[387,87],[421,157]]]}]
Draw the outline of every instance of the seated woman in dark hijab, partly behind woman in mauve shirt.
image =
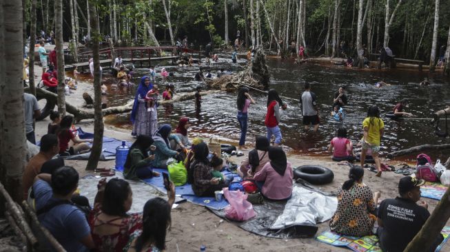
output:
[{"label": "seated woman in dark hijab, partly behind woman in mauve shirt", "polygon": [[249,170],[251,174],[256,174],[269,162],[269,139],[265,136],[256,136],[256,148],[249,151],[249,154],[241,162],[241,167],[237,170],[239,176],[245,178]]}]

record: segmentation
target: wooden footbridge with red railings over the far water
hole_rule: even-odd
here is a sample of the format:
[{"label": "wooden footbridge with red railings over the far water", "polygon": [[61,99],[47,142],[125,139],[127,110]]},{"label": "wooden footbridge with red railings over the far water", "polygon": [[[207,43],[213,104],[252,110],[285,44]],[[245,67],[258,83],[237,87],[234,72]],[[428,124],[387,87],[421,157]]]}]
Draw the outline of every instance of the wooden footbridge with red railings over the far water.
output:
[{"label": "wooden footbridge with red railings over the far water", "polygon": [[[152,46],[152,47],[132,47],[132,48],[114,48],[114,54],[116,56],[121,55],[123,62],[140,63],[147,62],[148,65],[152,65],[152,61],[172,60],[172,63],[178,58],[183,56],[182,54],[198,54],[198,59],[201,59],[201,52],[192,50],[190,48],[178,48],[176,46]],[[112,59],[111,48],[103,48],[99,51],[100,65],[112,66],[114,59]],[[78,67],[79,71],[83,71],[85,67],[89,67],[89,59],[93,56],[92,51],[80,52],[78,59],[80,63],[73,63],[72,65],[65,65],[65,69]]]}]

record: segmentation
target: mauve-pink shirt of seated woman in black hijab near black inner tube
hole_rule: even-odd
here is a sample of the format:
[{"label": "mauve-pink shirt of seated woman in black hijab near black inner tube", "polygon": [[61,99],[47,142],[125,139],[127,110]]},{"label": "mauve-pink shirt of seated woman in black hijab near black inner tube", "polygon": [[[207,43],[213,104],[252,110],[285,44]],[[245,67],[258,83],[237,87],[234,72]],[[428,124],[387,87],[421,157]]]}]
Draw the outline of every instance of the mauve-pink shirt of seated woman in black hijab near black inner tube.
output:
[{"label": "mauve-pink shirt of seated woman in black hijab near black inner tube", "polygon": [[291,163],[287,162],[285,175],[280,176],[278,172],[272,168],[270,162],[264,165],[263,169],[258,171],[254,179],[256,181],[265,181],[263,185],[263,195],[272,200],[283,200],[292,195],[292,173]]}]

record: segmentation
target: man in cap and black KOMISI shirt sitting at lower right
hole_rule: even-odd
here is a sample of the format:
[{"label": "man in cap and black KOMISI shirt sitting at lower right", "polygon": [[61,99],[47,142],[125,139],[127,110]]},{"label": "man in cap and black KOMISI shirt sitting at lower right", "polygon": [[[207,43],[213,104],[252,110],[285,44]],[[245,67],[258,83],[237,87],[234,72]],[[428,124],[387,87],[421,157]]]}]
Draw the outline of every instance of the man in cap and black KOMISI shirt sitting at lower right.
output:
[{"label": "man in cap and black KOMISI shirt sitting at lower right", "polygon": [[[383,200],[378,209],[378,231],[382,251],[401,252],[422,229],[430,216],[428,204],[420,200],[420,186],[425,183],[416,177],[403,177],[398,182],[400,197]],[[436,238],[434,251],[442,242],[442,235]]]}]

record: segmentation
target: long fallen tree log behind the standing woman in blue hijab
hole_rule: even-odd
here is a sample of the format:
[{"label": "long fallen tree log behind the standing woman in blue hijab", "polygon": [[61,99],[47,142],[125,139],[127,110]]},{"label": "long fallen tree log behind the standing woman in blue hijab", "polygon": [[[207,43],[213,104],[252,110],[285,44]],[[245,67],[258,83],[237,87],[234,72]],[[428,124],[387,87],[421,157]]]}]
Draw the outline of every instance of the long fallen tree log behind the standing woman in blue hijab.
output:
[{"label": "long fallen tree log behind the standing woman in blue hijab", "polygon": [[[28,87],[25,87],[25,92],[29,92]],[[220,92],[220,91],[208,90],[208,91],[200,92],[200,94],[202,96],[205,96],[207,94],[214,94],[217,92]],[[176,103],[178,101],[190,100],[190,99],[193,99],[194,97],[195,97],[195,92],[182,93],[182,94],[174,95],[172,100],[159,101],[158,103],[160,105],[164,105],[164,104]],[[58,96],[57,96],[57,94],[48,92],[47,90],[37,88],[36,89],[36,98],[38,101],[41,99],[45,99],[47,101],[47,104],[50,104],[50,105],[49,106],[45,105],[44,109],[47,108],[47,109],[50,109],[50,111],[51,111],[54,108],[54,105],[57,104]],[[103,109],[102,110],[103,116],[108,116],[110,114],[121,114],[121,113],[130,112],[133,109],[133,103],[134,103],[134,100],[132,100],[122,106],[108,107],[106,109]],[[67,110],[68,113],[70,113],[74,116],[74,119],[76,122],[79,122],[79,121],[85,120],[85,119],[94,119],[94,109],[83,109],[83,108],[75,107],[74,105],[71,105],[70,103],[67,103],[67,102],[65,103],[65,109]],[[47,116],[48,116],[48,114],[50,114],[50,111],[44,111],[44,113],[47,114]],[[39,118],[39,120],[43,120],[45,117],[46,116],[44,116],[44,117],[41,116]]]}]

